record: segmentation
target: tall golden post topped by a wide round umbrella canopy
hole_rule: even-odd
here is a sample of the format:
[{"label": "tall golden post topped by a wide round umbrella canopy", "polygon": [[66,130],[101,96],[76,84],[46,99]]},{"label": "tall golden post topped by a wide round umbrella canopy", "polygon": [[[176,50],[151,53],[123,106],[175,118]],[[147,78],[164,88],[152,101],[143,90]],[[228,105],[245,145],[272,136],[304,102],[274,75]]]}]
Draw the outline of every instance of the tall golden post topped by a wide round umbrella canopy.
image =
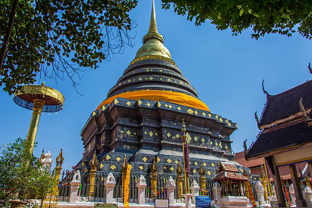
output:
[{"label": "tall golden post topped by a wide round umbrella canopy", "polygon": [[62,110],[64,96],[42,83],[41,85],[24,85],[22,90],[15,92],[13,100],[18,106],[33,110],[26,143],[26,148],[33,152],[41,112],[53,113]]}]

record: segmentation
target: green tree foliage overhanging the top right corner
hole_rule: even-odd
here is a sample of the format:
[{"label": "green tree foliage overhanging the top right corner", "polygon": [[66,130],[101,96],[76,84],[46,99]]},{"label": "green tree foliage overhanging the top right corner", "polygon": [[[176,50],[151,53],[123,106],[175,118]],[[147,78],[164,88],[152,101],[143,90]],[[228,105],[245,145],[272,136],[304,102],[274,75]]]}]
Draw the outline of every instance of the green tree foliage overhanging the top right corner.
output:
[{"label": "green tree foliage overhanging the top right corner", "polygon": [[162,0],[163,8],[171,5],[178,15],[187,15],[200,25],[210,20],[218,30],[230,29],[233,35],[252,28],[252,38],[278,33],[292,36],[299,32],[312,38],[311,0]]}]

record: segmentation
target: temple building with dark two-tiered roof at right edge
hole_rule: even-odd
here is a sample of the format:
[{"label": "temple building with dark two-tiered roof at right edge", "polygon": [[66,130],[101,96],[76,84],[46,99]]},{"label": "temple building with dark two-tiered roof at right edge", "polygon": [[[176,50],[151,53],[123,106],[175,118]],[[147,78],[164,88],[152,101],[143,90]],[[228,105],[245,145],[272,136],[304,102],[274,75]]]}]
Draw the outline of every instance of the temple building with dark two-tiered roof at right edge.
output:
[{"label": "temple building with dark two-tiered roof at right edge", "polygon": [[267,102],[261,118],[255,114],[261,132],[248,149],[244,145],[245,159],[265,158],[271,169],[279,206],[286,206],[280,170],[288,167],[296,205],[307,206],[297,168],[300,163],[307,163],[309,172],[312,172],[312,81],[276,95],[270,95],[266,90],[264,93],[267,94]]}]

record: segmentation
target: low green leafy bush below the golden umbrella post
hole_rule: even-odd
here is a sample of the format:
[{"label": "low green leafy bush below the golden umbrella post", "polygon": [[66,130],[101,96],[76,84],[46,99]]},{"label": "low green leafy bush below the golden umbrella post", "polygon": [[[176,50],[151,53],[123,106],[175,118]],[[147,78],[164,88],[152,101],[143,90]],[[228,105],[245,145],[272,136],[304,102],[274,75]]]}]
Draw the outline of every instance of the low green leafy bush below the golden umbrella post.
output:
[{"label": "low green leafy bush below the golden umbrella post", "polygon": [[55,177],[25,149],[25,142],[18,138],[0,148],[0,200],[44,197],[57,186]]}]

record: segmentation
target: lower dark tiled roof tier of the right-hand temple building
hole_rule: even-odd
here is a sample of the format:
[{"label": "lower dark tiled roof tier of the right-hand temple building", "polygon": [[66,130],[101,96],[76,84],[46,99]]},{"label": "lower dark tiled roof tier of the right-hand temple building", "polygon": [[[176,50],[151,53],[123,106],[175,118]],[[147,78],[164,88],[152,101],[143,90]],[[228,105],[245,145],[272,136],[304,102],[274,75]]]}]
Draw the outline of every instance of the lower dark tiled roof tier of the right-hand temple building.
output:
[{"label": "lower dark tiled roof tier of the right-hand temple building", "polygon": [[275,150],[283,150],[292,146],[303,145],[311,140],[312,128],[304,120],[271,127],[258,135],[255,143],[250,147],[246,159],[252,160],[264,157]]}]

